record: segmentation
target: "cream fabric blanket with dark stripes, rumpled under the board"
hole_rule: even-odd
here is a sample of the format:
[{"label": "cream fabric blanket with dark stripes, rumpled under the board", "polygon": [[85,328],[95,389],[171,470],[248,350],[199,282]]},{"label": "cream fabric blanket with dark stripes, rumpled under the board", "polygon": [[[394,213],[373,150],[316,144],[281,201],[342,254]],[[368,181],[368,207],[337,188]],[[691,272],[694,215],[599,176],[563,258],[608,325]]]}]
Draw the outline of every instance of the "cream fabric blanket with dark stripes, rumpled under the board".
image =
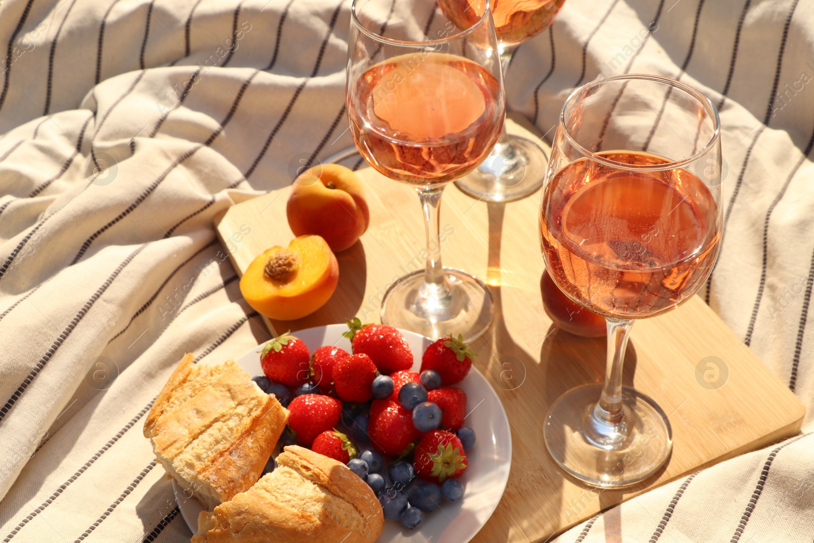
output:
[{"label": "cream fabric blanket with dark stripes, rumpled under the board", "polygon": [[[268,339],[212,217],[352,144],[348,25],[348,0],[0,2],[2,541],[188,541],[142,418],[183,353]],[[514,55],[510,107],[550,135],[600,72],[720,107],[726,230],[702,296],[814,406],[814,3],[567,0]],[[558,541],[810,542],[812,496],[804,434]]]}]

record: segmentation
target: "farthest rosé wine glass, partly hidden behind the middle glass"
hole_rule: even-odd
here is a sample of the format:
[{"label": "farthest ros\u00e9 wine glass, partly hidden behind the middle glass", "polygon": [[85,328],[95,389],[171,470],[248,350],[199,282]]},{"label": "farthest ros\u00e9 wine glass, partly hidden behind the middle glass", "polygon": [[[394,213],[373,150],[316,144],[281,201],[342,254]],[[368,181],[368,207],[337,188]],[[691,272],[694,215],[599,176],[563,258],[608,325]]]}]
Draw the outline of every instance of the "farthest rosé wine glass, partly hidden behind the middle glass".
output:
[{"label": "farthest ros\u00e9 wine glass, partly hidden behind the middle glass", "polygon": [[[484,1],[439,0],[444,13],[462,25],[480,13]],[[492,19],[504,74],[517,46],[549,28],[563,3],[565,0],[494,1]],[[519,135],[509,135],[504,127],[484,163],[455,185],[470,196],[490,202],[510,202],[531,195],[543,184],[547,160],[536,143]]]}]

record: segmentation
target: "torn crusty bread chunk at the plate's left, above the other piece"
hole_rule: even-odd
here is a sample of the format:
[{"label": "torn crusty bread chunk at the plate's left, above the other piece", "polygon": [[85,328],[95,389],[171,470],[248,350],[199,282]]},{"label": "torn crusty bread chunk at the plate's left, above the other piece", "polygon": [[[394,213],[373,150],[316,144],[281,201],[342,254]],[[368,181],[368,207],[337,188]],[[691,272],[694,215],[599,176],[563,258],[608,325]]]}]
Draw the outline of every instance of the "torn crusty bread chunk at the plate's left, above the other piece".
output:
[{"label": "torn crusty bread chunk at the plate's left, above the other piece", "polygon": [[197,366],[187,354],[144,421],[164,470],[213,509],[260,478],[288,411],[235,361]]}]

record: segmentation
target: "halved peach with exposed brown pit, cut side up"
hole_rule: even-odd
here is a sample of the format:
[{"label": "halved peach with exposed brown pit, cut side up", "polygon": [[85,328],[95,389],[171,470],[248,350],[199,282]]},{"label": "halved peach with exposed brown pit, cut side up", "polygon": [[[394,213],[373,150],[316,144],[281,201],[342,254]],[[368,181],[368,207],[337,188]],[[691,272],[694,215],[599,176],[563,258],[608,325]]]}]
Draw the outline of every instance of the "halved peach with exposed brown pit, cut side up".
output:
[{"label": "halved peach with exposed brown pit, cut side up", "polygon": [[257,256],[240,278],[240,291],[258,313],[291,321],[321,308],[338,281],[339,265],[328,243],[305,235]]}]

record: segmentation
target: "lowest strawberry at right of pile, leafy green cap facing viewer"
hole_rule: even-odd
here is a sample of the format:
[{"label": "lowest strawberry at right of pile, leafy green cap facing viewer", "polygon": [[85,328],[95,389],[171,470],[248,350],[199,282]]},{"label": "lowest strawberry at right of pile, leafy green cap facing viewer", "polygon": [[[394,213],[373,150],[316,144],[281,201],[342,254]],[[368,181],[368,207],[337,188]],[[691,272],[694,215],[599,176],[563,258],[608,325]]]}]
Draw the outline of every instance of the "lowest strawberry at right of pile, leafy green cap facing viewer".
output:
[{"label": "lowest strawberry at right of pile, leafy green cap facing viewer", "polygon": [[451,431],[428,431],[415,446],[413,466],[419,477],[434,483],[457,479],[466,471],[466,453]]}]

